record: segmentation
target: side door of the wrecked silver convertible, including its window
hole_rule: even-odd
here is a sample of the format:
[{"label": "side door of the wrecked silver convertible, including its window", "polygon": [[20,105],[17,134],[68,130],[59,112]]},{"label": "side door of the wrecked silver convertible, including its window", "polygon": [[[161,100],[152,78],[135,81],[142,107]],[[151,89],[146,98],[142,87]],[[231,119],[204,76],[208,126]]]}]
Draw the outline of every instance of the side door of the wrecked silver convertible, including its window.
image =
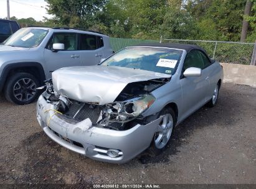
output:
[{"label": "side door of the wrecked silver convertible, including its window", "polygon": [[190,67],[201,68],[201,76],[184,77],[181,75],[183,98],[182,114],[189,116],[206,103],[206,93],[209,90],[209,72],[204,69],[199,50],[191,50],[184,60],[183,72]]}]

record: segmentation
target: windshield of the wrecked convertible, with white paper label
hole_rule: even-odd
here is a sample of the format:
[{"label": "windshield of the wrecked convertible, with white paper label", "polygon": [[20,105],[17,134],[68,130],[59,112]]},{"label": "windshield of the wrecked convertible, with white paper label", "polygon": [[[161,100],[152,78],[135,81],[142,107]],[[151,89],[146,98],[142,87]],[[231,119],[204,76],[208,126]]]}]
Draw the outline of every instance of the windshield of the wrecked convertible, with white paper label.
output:
[{"label": "windshield of the wrecked convertible, with white paper label", "polygon": [[183,51],[168,48],[128,47],[105,60],[102,65],[173,74]]}]

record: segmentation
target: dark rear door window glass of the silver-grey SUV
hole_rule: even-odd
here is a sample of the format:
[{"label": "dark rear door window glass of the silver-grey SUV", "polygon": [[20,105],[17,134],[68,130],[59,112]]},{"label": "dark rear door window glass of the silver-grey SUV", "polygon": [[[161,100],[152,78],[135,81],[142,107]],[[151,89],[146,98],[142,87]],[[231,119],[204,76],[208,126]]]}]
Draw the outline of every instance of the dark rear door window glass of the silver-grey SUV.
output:
[{"label": "dark rear door window glass of the silver-grey SUV", "polygon": [[97,49],[97,36],[89,34],[80,34],[80,50]]}]

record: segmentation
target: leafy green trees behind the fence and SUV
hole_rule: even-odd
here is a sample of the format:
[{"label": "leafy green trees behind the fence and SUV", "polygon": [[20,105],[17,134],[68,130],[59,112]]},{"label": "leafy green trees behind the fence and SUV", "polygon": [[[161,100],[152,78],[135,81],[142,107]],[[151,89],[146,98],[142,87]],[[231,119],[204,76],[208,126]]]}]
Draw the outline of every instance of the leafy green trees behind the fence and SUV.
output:
[{"label": "leafy green trees behind the fence and SUV", "polygon": [[[29,25],[92,29],[111,37],[239,41],[246,0],[45,0],[53,17]],[[247,19],[256,39],[256,0]]]}]

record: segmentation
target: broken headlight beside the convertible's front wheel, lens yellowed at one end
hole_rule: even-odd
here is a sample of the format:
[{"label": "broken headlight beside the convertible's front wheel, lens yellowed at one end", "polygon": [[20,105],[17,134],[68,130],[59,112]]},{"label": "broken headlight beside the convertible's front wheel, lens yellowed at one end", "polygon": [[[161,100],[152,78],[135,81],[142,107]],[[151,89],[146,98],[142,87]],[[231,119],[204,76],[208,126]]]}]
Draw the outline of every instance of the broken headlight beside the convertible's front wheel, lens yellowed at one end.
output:
[{"label": "broken headlight beside the convertible's front wheel, lens yellowed at one end", "polygon": [[154,100],[154,96],[145,94],[128,101],[107,104],[105,116],[107,116],[108,122],[128,122],[140,116],[154,103]]}]

